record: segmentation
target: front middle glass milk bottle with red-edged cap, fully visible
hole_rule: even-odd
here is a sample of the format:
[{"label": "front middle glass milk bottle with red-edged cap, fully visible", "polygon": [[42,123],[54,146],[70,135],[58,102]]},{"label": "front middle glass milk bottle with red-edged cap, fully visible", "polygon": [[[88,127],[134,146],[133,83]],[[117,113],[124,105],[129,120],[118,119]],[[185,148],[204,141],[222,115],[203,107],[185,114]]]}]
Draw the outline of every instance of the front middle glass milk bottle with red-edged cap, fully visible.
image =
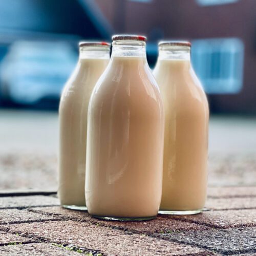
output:
[{"label": "front middle glass milk bottle with red-edged cap, fully visible", "polygon": [[162,193],[164,115],[144,36],[116,35],[88,110],[86,203],[100,219],[156,217]]}]

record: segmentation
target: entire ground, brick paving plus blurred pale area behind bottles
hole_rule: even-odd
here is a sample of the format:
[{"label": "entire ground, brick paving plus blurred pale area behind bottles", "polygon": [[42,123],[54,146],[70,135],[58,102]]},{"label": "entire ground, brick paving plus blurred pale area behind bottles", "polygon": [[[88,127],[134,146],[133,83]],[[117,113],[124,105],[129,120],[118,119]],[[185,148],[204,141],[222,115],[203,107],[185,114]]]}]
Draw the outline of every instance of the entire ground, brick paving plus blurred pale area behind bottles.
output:
[{"label": "entire ground, brick paving plus blurred pale area behind bottles", "polygon": [[100,221],[56,198],[56,113],[0,111],[0,255],[256,255],[256,121],[214,117],[203,214]]}]

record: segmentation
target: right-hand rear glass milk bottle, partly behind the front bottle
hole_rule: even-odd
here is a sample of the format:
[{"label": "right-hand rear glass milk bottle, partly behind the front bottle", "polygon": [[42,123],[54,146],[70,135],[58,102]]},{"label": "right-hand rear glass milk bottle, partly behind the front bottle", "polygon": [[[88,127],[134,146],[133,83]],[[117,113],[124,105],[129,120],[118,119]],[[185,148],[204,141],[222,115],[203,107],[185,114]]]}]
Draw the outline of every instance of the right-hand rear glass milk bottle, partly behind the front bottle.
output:
[{"label": "right-hand rear glass milk bottle, partly behind the front bottle", "polygon": [[165,112],[160,213],[197,214],[206,200],[208,103],[189,42],[160,42],[154,75]]}]

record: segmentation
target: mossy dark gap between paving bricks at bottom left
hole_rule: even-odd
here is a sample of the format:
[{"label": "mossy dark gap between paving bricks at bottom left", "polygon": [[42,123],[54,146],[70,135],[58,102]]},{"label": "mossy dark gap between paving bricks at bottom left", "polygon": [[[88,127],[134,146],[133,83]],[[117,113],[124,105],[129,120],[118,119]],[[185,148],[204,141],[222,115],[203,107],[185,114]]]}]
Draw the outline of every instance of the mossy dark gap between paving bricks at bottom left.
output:
[{"label": "mossy dark gap between paving bricks at bottom left", "polygon": [[[6,233],[10,233],[10,234],[17,234],[17,232],[15,231],[12,231],[12,232],[9,232],[9,230],[7,230],[6,228],[1,228],[0,226],[0,230],[1,231],[4,231]],[[55,241],[55,240],[52,240],[52,239],[48,239],[46,237],[40,237],[40,236],[36,236],[34,234],[30,234],[28,233],[27,235],[25,234],[22,234],[22,233],[19,233],[19,236],[20,237],[23,237],[23,238],[28,238],[28,239],[34,239],[34,241],[28,241],[30,243],[34,243],[34,244],[39,244],[39,243],[45,243],[45,244],[57,244],[57,245],[62,245],[63,247],[67,247],[67,246],[64,246],[63,243],[60,243],[59,241]],[[25,242],[24,242],[25,243]],[[103,252],[101,252],[101,250],[98,250],[98,249],[88,249],[88,248],[84,248],[84,247],[80,247],[80,246],[77,246],[77,245],[74,245],[73,247],[77,247],[78,249],[79,248],[83,248],[84,249],[84,252],[86,253],[90,253],[90,252],[93,252],[93,251],[97,251],[99,253],[101,253],[102,255],[104,255]]]}]

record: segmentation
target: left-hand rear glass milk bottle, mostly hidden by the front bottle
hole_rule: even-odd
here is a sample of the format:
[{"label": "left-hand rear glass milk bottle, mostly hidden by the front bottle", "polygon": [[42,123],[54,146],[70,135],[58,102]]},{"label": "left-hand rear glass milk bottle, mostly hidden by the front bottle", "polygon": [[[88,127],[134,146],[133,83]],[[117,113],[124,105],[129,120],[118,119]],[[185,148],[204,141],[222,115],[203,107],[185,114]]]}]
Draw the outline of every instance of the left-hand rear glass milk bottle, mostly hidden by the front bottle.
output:
[{"label": "left-hand rear glass milk bottle, mostly hidden by the front bottle", "polygon": [[93,88],[109,63],[110,44],[80,42],[79,60],[59,104],[58,197],[63,207],[86,209],[87,111]]}]

